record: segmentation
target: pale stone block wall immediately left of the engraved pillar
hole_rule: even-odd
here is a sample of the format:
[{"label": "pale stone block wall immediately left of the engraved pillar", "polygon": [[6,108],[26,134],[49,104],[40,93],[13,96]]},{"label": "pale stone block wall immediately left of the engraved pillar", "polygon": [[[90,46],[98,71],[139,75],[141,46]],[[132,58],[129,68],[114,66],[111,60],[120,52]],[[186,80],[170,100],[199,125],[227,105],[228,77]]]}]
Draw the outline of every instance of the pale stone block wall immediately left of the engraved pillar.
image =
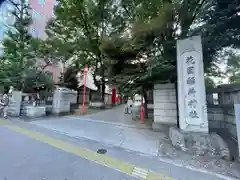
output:
[{"label": "pale stone block wall immediately left of the engraved pillar", "polygon": [[174,84],[156,84],[153,91],[154,123],[177,124],[177,99]]}]

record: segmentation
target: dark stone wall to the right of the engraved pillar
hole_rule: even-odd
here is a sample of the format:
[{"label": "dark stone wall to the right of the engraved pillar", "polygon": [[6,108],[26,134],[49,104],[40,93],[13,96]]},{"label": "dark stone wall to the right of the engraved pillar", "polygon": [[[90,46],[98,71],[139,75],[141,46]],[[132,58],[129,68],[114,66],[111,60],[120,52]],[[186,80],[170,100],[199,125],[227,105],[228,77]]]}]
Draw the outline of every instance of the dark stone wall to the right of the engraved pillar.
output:
[{"label": "dark stone wall to the right of the engraved pillar", "polygon": [[237,140],[234,104],[240,104],[240,84],[207,89],[207,104],[210,130],[226,132]]}]

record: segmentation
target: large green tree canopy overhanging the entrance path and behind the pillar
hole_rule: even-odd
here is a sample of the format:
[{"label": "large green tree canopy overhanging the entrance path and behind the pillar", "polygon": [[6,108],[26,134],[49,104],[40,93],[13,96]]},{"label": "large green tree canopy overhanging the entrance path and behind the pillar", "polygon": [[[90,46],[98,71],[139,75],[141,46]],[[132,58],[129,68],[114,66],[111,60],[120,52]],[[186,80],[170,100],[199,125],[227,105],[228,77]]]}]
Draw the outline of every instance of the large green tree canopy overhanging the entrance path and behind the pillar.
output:
[{"label": "large green tree canopy overhanging the entrance path and behind the pillar", "polygon": [[48,39],[65,60],[90,67],[102,92],[106,79],[143,92],[176,81],[176,41],[189,36],[202,36],[205,72],[218,74],[218,52],[239,47],[239,8],[239,0],[60,0]]}]

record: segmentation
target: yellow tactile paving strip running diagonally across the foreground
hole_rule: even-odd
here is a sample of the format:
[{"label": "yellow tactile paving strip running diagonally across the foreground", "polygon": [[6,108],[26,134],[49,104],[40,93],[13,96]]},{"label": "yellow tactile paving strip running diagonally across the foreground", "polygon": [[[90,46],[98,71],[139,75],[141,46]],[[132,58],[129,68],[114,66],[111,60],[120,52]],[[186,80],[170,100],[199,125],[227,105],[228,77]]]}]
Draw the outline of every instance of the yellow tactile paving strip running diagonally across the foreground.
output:
[{"label": "yellow tactile paving strip running diagonally across the foreground", "polygon": [[1,121],[0,121],[0,125],[5,125],[10,130],[13,130],[20,134],[27,135],[35,140],[44,142],[50,146],[61,149],[62,151],[69,152],[71,154],[77,155],[81,158],[84,158],[90,161],[94,161],[98,164],[120,171],[124,174],[130,175],[136,178],[140,178],[142,180],[173,180],[172,178],[167,177],[165,175],[154,173],[147,169],[137,167],[133,164],[129,164],[127,162],[118,160],[108,155],[98,154],[86,148],[82,148],[64,141],[50,138],[38,132],[34,132],[34,131],[30,131],[17,126],[9,125],[8,123],[2,123]]}]

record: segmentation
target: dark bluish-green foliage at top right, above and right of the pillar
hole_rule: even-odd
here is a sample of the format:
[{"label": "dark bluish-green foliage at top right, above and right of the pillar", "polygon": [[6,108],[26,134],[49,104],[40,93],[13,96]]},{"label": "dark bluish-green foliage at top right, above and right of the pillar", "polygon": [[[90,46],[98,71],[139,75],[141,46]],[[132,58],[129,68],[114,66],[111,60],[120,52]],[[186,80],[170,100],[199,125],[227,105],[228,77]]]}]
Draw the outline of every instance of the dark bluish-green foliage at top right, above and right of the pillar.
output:
[{"label": "dark bluish-green foliage at top right, above and right of the pillar", "polygon": [[205,11],[198,20],[202,25],[192,29],[190,34],[202,35],[205,68],[211,67],[223,48],[239,48],[239,7],[239,0],[212,0],[204,6]]}]

